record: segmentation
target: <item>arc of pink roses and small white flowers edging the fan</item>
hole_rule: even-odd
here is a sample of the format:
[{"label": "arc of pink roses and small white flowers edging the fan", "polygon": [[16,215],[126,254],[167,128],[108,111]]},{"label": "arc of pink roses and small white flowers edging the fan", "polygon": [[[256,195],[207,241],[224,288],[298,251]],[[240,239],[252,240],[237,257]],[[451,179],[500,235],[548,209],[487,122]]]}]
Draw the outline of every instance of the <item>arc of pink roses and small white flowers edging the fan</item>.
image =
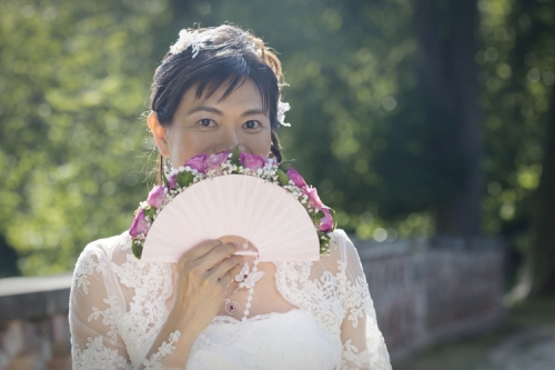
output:
[{"label": "arc of pink roses and small white flowers edging the fan", "polygon": [[292,161],[278,163],[273,158],[239,153],[235,147],[232,153],[223,151],[216,154],[199,154],[185,163],[163,176],[164,183],[155,186],[147,201],[140,203],[129,234],[131,250],[137,258],[141,258],[147,234],[158,214],[173,198],[190,186],[226,174],[245,174],[261,178],[283,188],[299,200],[306,209],[320,240],[320,254],[330,254],[331,232],[335,230],[331,208],[324,206],[317,196],[316,189],[310,187],[303,177],[291,167]]}]

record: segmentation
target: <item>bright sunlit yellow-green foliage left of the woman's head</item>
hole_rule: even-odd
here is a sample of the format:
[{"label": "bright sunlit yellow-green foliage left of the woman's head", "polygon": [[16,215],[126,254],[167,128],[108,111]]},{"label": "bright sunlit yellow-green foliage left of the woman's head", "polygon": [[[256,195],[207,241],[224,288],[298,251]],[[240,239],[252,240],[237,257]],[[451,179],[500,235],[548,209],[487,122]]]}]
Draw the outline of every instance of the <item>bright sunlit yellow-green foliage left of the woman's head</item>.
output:
[{"label": "bright sunlit yellow-green foliage left of the woman's head", "polygon": [[140,120],[155,63],[150,1],[4,1],[0,232],[26,274],[71,269],[120,233],[147,187]]}]

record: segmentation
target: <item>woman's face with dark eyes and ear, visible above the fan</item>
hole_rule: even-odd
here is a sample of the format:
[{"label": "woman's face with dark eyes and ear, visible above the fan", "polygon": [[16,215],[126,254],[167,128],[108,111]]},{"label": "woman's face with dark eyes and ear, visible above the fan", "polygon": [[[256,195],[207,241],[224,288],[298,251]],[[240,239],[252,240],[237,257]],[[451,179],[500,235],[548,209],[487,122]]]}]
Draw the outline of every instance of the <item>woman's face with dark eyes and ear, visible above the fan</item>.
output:
[{"label": "woman's face with dark eyes and ear, visible above the fan", "polygon": [[270,118],[256,84],[246,79],[221,100],[225,88],[224,83],[210,98],[201,99],[195,99],[194,88],[189,89],[169,127],[161,126],[155,113],[149,116],[158,148],[174,167],[201,153],[232,151],[238,144],[241,152],[269,154]]}]

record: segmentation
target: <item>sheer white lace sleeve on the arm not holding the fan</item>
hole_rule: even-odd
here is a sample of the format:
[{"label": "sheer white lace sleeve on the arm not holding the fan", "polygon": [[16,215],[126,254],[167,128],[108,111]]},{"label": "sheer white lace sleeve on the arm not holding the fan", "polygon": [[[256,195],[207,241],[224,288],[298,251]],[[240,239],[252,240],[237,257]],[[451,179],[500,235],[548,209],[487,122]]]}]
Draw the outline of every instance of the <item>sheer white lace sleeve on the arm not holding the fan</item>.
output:
[{"label": "sheer white lace sleeve on the arm not holding the fan", "polygon": [[345,233],[342,232],[342,237],[337,239],[342,252],[340,270],[345,272],[340,276],[345,280],[341,286],[344,289],[343,304],[346,311],[341,326],[341,369],[391,370],[390,356],[377,328],[376,313],[359,252]]}]

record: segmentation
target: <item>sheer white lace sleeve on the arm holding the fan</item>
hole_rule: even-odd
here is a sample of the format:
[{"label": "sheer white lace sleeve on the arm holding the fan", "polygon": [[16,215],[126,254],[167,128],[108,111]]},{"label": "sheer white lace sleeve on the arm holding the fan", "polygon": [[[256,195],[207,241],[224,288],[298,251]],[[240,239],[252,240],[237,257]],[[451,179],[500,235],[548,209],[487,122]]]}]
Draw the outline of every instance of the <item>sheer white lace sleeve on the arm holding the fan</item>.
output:
[{"label": "sheer white lace sleeve on the arm holding the fan", "polygon": [[[108,254],[101,243],[87,246],[73,272],[69,322],[75,370],[133,369],[119,333],[125,300]],[[173,352],[179,336],[174,331],[168,343],[144,360],[145,369],[161,369],[160,361]]]}]

